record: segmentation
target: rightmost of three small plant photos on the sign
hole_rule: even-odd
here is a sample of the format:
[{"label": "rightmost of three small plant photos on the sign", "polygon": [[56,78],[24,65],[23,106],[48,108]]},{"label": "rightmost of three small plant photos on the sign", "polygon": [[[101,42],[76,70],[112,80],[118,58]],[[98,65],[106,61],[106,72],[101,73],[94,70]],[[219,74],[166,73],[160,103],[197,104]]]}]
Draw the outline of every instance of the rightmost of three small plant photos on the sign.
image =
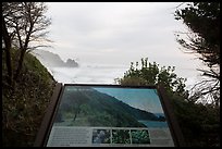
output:
[{"label": "rightmost of three small plant photos on the sign", "polygon": [[132,129],[132,144],[150,144],[147,129]]}]

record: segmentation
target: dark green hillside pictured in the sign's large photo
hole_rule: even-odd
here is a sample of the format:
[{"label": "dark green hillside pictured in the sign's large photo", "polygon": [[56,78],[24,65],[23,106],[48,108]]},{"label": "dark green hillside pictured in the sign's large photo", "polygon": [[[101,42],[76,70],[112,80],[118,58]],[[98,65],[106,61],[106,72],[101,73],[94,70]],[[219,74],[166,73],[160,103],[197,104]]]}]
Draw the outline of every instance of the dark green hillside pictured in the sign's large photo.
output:
[{"label": "dark green hillside pictured in the sign's large photo", "polygon": [[77,87],[63,94],[55,122],[61,122],[59,125],[146,127],[138,120],[162,121],[107,94]]}]

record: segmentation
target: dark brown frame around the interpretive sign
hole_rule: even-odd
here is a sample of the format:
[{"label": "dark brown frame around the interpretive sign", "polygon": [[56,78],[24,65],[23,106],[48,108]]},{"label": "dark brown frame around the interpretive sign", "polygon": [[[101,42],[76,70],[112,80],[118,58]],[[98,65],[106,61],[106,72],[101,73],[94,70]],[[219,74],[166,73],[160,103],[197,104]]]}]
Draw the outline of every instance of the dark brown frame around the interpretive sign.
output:
[{"label": "dark brown frame around the interpretive sign", "polygon": [[47,112],[41,122],[40,128],[38,131],[34,147],[46,147],[48,137],[50,135],[52,124],[60,105],[61,97],[63,95],[65,86],[88,86],[88,87],[115,87],[115,88],[146,88],[146,89],[157,89],[158,96],[161,101],[163,112],[171,131],[171,135],[176,147],[185,147],[185,140],[176,117],[172,111],[172,105],[169,98],[165,95],[164,88],[161,86],[122,86],[122,85],[102,85],[102,84],[64,84],[58,83],[53,95],[51,97],[51,102],[48,105]]}]

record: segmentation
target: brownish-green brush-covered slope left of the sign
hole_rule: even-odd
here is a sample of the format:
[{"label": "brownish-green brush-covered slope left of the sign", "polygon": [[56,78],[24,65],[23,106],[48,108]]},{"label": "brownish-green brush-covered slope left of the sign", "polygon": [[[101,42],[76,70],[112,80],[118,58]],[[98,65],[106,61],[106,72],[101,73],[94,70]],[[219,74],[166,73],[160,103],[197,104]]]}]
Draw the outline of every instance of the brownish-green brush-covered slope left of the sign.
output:
[{"label": "brownish-green brush-covered slope left of the sign", "polygon": [[[12,64],[16,65],[18,51],[11,51]],[[33,146],[55,80],[29,53],[24,55],[23,69],[14,88],[5,78],[5,53],[2,51],[2,145]]]}]

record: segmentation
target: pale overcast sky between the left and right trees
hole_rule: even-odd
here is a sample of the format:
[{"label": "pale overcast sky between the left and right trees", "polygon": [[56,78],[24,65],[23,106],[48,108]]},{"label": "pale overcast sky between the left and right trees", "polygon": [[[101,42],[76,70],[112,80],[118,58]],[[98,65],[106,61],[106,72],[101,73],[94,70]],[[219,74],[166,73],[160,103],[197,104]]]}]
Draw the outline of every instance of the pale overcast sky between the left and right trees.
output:
[{"label": "pale overcast sky between the left and right trees", "polygon": [[[184,53],[176,32],[187,28],[174,20],[181,2],[47,2],[52,25],[49,38],[63,60],[128,65],[148,58],[176,66],[181,77],[196,77],[201,62]],[[183,5],[182,5],[183,7]],[[185,7],[185,5],[184,5]]]}]

